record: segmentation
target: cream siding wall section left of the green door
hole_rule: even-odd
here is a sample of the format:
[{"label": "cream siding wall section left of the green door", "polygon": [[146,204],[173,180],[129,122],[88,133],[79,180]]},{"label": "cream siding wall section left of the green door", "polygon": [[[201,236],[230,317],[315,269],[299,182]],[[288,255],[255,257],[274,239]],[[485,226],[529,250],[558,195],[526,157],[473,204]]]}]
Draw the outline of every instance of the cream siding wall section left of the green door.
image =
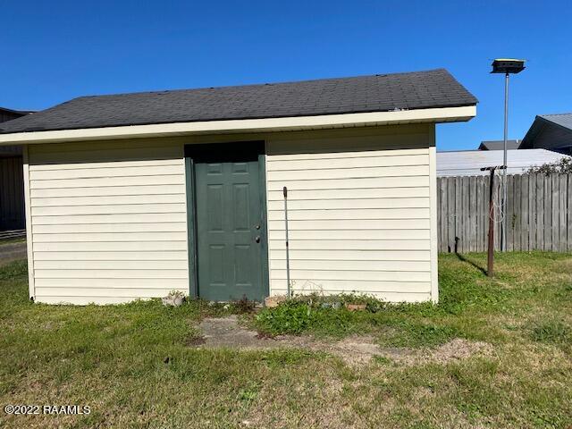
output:
[{"label": "cream siding wall section left of the green door", "polygon": [[29,147],[30,294],[38,302],[188,292],[182,149],[157,140]]}]

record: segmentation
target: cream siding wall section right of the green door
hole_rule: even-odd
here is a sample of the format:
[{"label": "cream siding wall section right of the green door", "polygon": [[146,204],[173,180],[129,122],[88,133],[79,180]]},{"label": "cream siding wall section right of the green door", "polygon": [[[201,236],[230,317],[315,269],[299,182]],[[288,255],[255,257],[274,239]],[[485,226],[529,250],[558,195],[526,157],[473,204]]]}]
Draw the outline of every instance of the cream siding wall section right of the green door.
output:
[{"label": "cream siding wall section right of the green door", "polygon": [[268,139],[271,293],[287,288],[282,197],[287,186],[295,293],[434,299],[433,145],[433,125]]}]

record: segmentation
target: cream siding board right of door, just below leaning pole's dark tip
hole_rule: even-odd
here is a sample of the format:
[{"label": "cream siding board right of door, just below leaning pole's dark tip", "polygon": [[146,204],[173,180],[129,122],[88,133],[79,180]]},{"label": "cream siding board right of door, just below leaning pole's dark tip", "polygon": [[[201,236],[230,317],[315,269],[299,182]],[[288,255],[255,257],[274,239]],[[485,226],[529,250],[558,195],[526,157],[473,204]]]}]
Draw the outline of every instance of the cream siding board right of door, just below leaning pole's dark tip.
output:
[{"label": "cream siding board right of door, just below leaning pole's dark tip", "polygon": [[[429,198],[354,198],[290,200],[289,210],[349,209],[349,208],[429,208]],[[284,211],[284,201],[269,201],[268,210]]]}]

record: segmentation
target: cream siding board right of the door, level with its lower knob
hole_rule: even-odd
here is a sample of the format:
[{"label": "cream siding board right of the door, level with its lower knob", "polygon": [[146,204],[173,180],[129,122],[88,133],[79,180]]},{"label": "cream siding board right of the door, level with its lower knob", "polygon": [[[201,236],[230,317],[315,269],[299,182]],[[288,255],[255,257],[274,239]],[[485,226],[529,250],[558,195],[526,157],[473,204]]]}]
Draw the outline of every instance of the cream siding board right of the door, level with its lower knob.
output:
[{"label": "cream siding board right of the door, level with its lower knob", "polygon": [[[269,240],[268,248],[286,248],[284,240]],[[290,250],[428,250],[430,240],[290,240]]]}]

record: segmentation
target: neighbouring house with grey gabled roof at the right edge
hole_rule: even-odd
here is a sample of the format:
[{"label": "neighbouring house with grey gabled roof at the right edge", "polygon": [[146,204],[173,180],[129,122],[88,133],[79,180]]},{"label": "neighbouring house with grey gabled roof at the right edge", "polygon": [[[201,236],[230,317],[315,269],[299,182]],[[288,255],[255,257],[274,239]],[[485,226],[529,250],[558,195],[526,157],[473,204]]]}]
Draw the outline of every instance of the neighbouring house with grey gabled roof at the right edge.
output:
[{"label": "neighbouring house with grey gabled roof at the right edge", "polygon": [[545,147],[572,154],[572,114],[539,114],[519,148]]}]

